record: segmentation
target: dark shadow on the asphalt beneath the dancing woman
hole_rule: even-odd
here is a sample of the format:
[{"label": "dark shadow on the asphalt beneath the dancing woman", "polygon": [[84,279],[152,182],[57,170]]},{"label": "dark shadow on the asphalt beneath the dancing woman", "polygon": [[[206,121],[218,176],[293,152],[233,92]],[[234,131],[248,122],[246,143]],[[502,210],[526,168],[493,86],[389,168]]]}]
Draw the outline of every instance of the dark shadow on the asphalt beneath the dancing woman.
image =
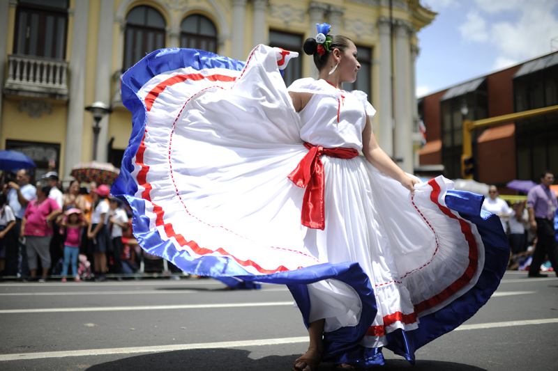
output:
[{"label": "dark shadow on the asphalt beneath the dancing woman", "polygon": [[[241,370],[241,371],[288,371],[299,354],[290,356],[267,356],[259,359],[249,358],[250,351],[243,349],[193,349],[155,354],[142,354],[121,358],[116,361],[100,363],[87,368],[88,371],[126,371],[126,370]],[[335,370],[331,363],[322,363],[317,371]],[[388,359],[386,365],[375,370],[409,371],[485,371],[472,365],[442,361],[417,361],[412,366],[405,360]]]}]

